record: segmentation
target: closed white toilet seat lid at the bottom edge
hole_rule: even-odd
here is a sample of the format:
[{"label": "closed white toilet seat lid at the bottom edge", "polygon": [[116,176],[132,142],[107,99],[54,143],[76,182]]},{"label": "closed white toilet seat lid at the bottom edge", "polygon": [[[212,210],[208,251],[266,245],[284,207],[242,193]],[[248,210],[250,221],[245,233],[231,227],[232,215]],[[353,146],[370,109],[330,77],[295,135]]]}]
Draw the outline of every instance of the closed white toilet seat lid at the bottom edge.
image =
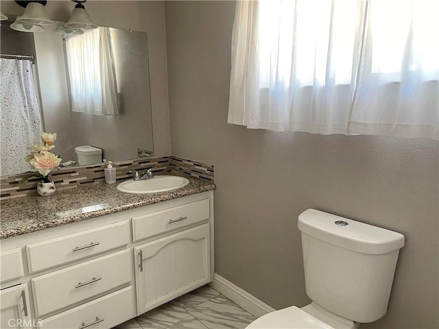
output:
[{"label": "closed white toilet seat lid at the bottom edge", "polygon": [[316,317],[313,317],[305,310],[301,310],[296,306],[289,306],[282,310],[275,310],[259,317],[249,324],[246,329],[334,329],[320,321]]}]

